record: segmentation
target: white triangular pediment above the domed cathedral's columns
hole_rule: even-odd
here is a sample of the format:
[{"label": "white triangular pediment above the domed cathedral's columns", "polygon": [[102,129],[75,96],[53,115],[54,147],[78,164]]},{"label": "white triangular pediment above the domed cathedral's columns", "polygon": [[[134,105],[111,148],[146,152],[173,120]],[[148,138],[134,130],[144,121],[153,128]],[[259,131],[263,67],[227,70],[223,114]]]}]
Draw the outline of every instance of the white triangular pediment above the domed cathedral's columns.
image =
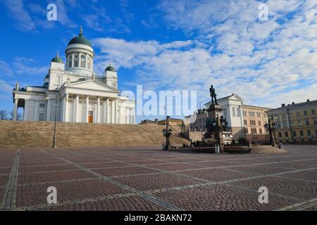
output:
[{"label": "white triangular pediment above the domed cathedral's columns", "polygon": [[65,84],[65,87],[66,88],[71,87],[73,89],[88,89],[88,90],[94,90],[94,91],[107,91],[107,92],[116,92],[116,93],[119,92],[118,90],[113,89],[112,86],[108,86],[107,84],[99,82],[96,79]]}]

